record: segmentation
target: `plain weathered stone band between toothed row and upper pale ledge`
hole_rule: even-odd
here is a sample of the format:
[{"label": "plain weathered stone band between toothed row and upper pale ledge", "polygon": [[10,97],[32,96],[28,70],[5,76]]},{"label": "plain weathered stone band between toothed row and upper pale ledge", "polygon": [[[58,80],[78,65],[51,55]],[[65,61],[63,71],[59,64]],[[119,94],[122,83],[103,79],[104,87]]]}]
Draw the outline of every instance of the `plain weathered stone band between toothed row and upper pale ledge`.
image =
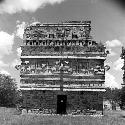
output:
[{"label": "plain weathered stone band between toothed row and upper pale ledge", "polygon": [[106,56],[104,46],[22,46],[22,56],[40,56],[44,54],[56,54],[56,55],[67,55],[67,54],[88,54],[92,56],[93,54]]}]

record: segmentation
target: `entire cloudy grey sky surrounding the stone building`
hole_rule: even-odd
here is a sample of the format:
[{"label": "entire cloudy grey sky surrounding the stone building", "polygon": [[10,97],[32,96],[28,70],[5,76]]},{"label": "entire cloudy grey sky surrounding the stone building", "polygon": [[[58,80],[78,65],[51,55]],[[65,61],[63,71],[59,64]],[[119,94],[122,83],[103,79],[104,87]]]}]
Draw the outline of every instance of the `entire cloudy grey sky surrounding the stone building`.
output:
[{"label": "entire cloudy grey sky surrounding the stone building", "polygon": [[93,40],[110,51],[105,65],[105,85],[121,88],[125,46],[125,2],[122,0],[0,0],[0,73],[11,75],[19,84],[20,45],[24,27],[39,21],[91,20]]}]

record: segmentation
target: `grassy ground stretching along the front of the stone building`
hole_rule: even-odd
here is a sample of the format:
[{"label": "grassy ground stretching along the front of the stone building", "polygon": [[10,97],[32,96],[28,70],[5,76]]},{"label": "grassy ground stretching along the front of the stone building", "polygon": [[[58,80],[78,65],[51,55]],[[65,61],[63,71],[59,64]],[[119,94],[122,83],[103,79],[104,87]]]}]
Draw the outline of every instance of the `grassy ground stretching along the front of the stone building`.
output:
[{"label": "grassy ground stretching along the front of the stone building", "polygon": [[0,125],[124,125],[125,111],[105,111],[97,116],[20,115],[16,109],[0,108]]}]

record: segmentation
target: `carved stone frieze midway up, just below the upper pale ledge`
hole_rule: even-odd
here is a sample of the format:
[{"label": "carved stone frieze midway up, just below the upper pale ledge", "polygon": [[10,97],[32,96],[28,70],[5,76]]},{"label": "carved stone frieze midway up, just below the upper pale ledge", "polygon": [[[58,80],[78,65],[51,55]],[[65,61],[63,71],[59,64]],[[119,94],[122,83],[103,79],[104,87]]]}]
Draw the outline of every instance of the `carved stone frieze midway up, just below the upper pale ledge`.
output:
[{"label": "carved stone frieze midway up, just below the upper pale ledge", "polygon": [[[49,61],[51,62],[51,60]],[[53,75],[53,74],[68,74],[72,76],[94,76],[104,75],[105,68],[94,62],[77,62],[77,64],[67,60],[55,60],[53,63],[44,62],[40,60],[34,63],[29,62],[20,66],[21,75]],[[96,64],[97,63],[97,64]],[[89,66],[88,66],[89,65]],[[61,72],[62,70],[62,72]]]}]

